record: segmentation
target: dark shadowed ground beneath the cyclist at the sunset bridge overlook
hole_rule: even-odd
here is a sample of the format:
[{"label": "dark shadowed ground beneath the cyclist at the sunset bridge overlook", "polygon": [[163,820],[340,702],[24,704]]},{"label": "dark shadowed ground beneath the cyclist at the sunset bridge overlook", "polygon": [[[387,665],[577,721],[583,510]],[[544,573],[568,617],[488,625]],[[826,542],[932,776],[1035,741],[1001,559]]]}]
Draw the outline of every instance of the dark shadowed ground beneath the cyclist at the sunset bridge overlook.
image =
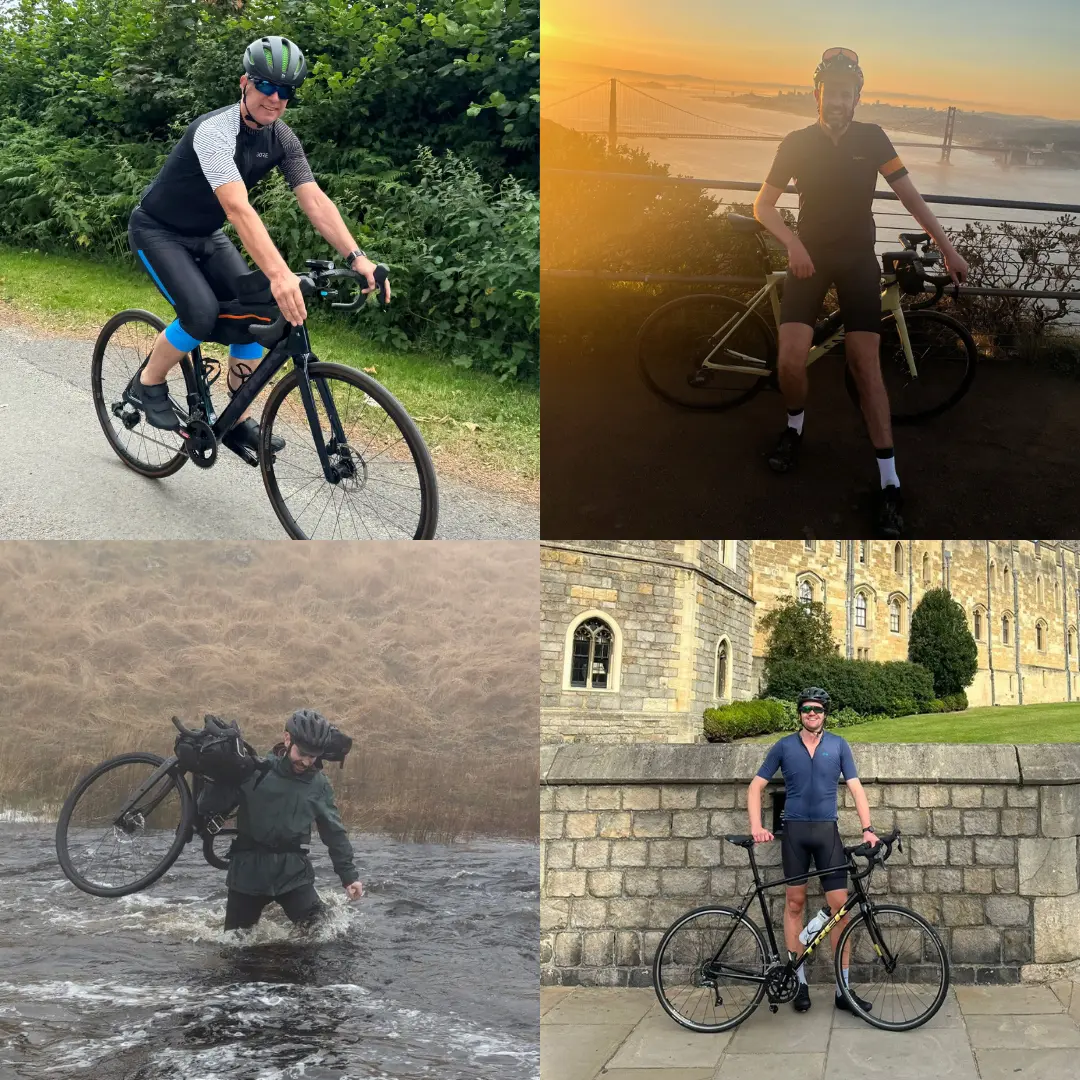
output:
[{"label": "dark shadowed ground beneath the cyclist at the sunset bridge overlook", "polygon": [[[810,369],[801,461],[778,476],[764,456],[780,395],[721,414],[665,404],[637,374],[649,308],[612,302],[583,287],[542,332],[542,536],[872,535],[877,467],[841,356]],[[1080,531],[1080,379],[985,362],[955,408],[897,428],[895,445],[912,538]]]}]

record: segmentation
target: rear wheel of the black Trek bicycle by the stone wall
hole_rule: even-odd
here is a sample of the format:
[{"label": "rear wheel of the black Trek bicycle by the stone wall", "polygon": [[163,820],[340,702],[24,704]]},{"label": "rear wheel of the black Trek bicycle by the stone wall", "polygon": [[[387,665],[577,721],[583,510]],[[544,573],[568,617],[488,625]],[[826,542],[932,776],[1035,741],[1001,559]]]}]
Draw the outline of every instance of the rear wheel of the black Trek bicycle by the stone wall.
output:
[{"label": "rear wheel of the black Trek bicycle by the stone wall", "polygon": [[660,940],[652,988],[683,1027],[727,1031],[760,1004],[765,982],[750,980],[764,978],[765,968],[765,941],[750,919],[731,907],[699,907],[676,919]]}]

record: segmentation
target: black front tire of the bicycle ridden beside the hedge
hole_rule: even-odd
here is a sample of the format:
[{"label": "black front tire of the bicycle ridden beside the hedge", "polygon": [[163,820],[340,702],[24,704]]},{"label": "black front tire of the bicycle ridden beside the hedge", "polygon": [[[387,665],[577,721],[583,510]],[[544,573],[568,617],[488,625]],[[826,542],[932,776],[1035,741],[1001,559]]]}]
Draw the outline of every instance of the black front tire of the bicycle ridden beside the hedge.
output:
[{"label": "black front tire of the bicycle ridden beside the hedge", "polygon": [[[435,477],[435,467],[432,463],[431,454],[423,441],[423,436],[420,434],[420,429],[414,423],[413,418],[405,410],[405,406],[386,387],[377,382],[369,375],[352,367],[346,367],[342,364],[323,362],[309,364],[308,375],[312,379],[325,376],[333,377],[342,382],[349,382],[362,393],[374,399],[383,411],[387,413],[405,438],[405,444],[413,456],[413,463],[416,467],[417,476],[420,482],[420,513],[413,539],[434,539],[435,528],[438,524],[438,482]],[[285,499],[282,496],[274,471],[274,454],[270,447],[270,440],[273,436],[273,422],[278,416],[278,410],[281,408],[286,396],[299,386],[299,381],[300,373],[294,368],[278,382],[267,399],[260,427],[259,470],[262,473],[262,483],[274,513],[278,515],[278,521],[281,522],[285,531],[294,540],[307,540],[309,539],[308,535],[293,516],[288,507],[285,505]],[[307,422],[307,418],[305,418],[305,422]]]}]

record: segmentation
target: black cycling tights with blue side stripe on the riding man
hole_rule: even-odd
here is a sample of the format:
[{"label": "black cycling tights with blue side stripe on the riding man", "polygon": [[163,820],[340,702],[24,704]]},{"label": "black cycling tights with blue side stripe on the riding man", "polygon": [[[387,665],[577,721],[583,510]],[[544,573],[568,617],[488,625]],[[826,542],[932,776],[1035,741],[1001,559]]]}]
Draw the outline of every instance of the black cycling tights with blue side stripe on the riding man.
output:
[{"label": "black cycling tights with blue side stripe on the riding man", "polygon": [[127,221],[127,240],[176,309],[180,329],[197,341],[212,340],[218,330],[218,301],[234,300],[237,279],[252,270],[237,245],[220,229],[208,237],[173,232],[139,206]]}]

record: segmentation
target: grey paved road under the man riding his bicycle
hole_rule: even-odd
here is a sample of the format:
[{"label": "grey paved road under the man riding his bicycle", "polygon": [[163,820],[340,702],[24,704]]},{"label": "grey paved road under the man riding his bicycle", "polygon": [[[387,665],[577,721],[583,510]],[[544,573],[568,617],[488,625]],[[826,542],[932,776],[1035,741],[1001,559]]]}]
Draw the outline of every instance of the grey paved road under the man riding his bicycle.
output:
[{"label": "grey paved road under the man riding his bicycle", "polygon": [[[0,328],[0,539],[285,538],[258,471],[228,451],[164,481],[125,468],[94,414],[91,348]],[[539,535],[538,508],[440,480],[440,539]]]}]

